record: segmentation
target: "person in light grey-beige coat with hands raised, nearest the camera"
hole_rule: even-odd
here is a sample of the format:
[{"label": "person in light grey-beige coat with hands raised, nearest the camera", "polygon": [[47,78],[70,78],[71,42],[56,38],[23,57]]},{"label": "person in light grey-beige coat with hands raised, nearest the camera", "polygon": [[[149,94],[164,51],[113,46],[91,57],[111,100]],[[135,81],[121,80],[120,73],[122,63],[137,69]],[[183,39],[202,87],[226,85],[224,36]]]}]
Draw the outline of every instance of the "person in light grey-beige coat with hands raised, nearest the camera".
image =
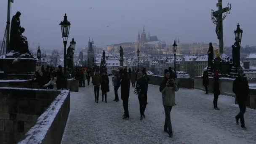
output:
[{"label": "person in light grey-beige coat with hands raised, nearest the camera", "polygon": [[165,77],[163,78],[159,90],[162,93],[163,107],[165,109],[164,131],[172,137],[171,109],[175,104],[175,92],[178,91],[178,87],[174,79],[170,79],[170,72],[168,69],[165,69]]}]

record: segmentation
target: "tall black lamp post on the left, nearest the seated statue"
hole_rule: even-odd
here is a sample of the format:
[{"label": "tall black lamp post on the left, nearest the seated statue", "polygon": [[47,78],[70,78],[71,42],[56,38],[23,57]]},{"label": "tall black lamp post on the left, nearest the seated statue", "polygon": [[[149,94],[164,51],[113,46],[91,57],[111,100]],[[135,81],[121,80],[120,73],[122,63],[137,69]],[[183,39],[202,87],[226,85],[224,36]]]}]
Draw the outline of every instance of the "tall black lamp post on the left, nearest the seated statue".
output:
[{"label": "tall black lamp post on the left, nearest the seated statue", "polygon": [[61,26],[61,33],[64,43],[64,76],[66,77],[66,47],[67,47],[67,39],[69,37],[69,28],[70,22],[67,21],[67,15],[65,13],[64,20],[59,24]]}]

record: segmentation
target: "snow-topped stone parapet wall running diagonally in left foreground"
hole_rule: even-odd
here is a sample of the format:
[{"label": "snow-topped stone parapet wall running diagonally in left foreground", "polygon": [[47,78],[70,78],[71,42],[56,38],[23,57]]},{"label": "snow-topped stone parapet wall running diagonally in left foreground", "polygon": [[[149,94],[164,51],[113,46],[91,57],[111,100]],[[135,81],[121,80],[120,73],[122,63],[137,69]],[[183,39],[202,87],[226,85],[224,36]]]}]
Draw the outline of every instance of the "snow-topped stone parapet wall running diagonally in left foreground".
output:
[{"label": "snow-topped stone parapet wall running diagonally in left foreground", "polygon": [[70,93],[63,90],[18,144],[60,144],[70,110]]}]

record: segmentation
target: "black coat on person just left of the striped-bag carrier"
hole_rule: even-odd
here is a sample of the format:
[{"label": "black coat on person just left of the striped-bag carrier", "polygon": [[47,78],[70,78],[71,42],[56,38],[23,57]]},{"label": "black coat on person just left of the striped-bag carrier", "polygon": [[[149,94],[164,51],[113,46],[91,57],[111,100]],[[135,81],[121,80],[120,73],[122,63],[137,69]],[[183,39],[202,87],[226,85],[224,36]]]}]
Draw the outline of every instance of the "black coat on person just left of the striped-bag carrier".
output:
[{"label": "black coat on person just left of the striped-bag carrier", "polygon": [[123,76],[121,80],[121,99],[122,100],[128,99],[129,94],[130,94],[130,80],[128,78],[128,75],[125,74],[125,76]]}]

